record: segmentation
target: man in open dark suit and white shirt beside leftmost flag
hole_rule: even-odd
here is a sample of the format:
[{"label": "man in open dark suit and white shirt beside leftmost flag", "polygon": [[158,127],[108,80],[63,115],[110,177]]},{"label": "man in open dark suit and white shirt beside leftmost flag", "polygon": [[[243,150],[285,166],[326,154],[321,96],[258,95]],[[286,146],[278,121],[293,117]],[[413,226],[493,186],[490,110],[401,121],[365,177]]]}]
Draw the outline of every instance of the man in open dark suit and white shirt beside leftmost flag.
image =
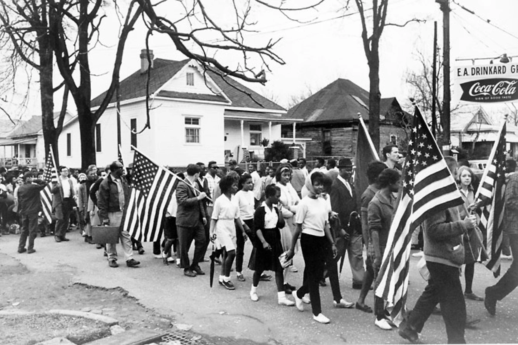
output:
[{"label": "man in open dark suit and white shirt beside leftmost flag", "polygon": [[50,191],[52,193],[52,210],[56,216],[54,229],[54,240],[56,242],[68,241],[65,235],[68,230],[70,212],[77,198],[74,184],[68,178],[68,168],[60,166],[59,172],[60,176],[57,177],[57,183],[54,183]]}]

